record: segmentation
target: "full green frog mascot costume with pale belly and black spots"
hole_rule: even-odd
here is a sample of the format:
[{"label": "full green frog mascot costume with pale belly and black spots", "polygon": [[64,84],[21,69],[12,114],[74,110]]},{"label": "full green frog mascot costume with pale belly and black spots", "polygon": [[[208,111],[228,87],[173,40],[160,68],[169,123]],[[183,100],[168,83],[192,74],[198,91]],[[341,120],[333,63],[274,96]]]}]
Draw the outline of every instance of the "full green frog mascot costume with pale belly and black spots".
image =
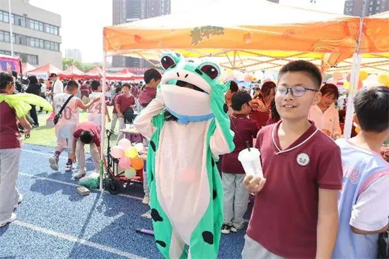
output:
[{"label": "full green frog mascot costume with pale belly and black spots", "polygon": [[156,244],[165,258],[216,258],[223,188],[215,161],[235,148],[220,69],[163,54],[156,98],[134,121],[149,139],[147,177]]}]

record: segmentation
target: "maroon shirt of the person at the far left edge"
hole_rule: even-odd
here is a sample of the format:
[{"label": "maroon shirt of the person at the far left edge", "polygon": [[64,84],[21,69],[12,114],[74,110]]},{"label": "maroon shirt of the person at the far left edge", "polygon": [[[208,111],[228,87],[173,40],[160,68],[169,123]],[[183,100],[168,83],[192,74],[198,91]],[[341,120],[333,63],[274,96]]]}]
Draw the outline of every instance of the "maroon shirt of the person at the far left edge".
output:
[{"label": "maroon shirt of the person at the far left edge", "polygon": [[[0,94],[8,94],[0,91]],[[19,129],[16,124],[16,113],[5,101],[0,103],[0,149],[18,149]]]}]

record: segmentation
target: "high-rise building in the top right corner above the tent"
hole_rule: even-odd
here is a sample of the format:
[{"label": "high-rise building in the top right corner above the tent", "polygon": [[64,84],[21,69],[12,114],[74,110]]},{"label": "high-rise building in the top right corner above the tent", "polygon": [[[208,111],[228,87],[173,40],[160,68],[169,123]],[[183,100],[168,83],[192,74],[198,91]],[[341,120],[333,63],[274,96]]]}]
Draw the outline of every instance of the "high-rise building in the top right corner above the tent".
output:
[{"label": "high-rise building in the top right corner above the tent", "polygon": [[349,16],[371,16],[389,11],[389,0],[346,0],[344,14]]}]

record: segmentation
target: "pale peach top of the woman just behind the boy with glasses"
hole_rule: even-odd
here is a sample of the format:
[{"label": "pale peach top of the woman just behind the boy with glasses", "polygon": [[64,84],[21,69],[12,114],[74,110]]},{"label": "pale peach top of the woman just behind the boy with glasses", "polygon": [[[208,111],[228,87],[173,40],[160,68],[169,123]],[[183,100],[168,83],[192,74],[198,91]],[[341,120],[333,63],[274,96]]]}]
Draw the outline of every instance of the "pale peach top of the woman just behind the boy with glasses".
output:
[{"label": "pale peach top of the woman just behind the boy with glasses", "polygon": [[342,135],[342,129],[339,125],[339,112],[334,105],[330,105],[324,113],[318,105],[311,106],[308,120],[315,122],[316,127],[320,130],[327,129],[331,132],[331,137]]}]

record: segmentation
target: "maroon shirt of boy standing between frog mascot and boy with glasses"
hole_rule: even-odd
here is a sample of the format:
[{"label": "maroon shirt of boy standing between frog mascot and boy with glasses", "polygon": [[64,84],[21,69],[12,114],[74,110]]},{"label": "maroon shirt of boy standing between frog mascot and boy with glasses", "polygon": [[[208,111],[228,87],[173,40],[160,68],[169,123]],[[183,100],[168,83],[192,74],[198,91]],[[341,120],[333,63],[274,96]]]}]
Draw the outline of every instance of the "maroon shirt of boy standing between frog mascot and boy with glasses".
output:
[{"label": "maroon shirt of boy standing between frog mascot and boy with glasses", "polygon": [[246,149],[246,141],[252,147],[252,139],[257,136],[259,128],[247,115],[232,114],[230,116],[231,130],[235,133],[233,143],[235,149],[230,154],[224,154],[221,161],[223,173],[245,173],[242,163],[238,161],[239,152]]}]

